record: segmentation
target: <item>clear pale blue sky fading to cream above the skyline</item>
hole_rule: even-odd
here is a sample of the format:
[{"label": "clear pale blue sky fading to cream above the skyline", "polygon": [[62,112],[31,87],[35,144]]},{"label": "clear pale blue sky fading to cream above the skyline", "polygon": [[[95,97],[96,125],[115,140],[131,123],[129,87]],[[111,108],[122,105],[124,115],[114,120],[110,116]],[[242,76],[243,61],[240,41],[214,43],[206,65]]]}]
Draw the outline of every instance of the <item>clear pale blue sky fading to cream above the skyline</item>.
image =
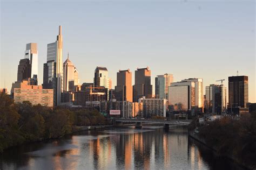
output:
[{"label": "clear pale blue sky fading to cream above the skyline", "polygon": [[17,81],[25,45],[38,44],[38,79],[43,82],[47,44],[62,25],[63,62],[77,67],[80,83],[93,82],[97,66],[109,70],[147,66],[154,77],[174,81],[200,77],[205,86],[247,75],[255,97],[255,1],[1,1],[0,88]]}]

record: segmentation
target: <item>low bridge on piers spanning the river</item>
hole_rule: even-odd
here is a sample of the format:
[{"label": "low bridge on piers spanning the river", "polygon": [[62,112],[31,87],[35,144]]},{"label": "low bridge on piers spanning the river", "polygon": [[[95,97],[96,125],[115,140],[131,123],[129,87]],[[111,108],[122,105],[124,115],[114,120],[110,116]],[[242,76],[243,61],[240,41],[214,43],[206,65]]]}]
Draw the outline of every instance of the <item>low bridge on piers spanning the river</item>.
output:
[{"label": "low bridge on piers spanning the river", "polygon": [[169,129],[169,125],[177,125],[177,126],[188,126],[192,120],[162,120],[162,119],[142,119],[142,118],[118,118],[114,120],[117,126],[122,125],[124,122],[135,123],[136,128],[141,128],[142,123],[152,123],[152,124],[163,124],[164,129]]}]

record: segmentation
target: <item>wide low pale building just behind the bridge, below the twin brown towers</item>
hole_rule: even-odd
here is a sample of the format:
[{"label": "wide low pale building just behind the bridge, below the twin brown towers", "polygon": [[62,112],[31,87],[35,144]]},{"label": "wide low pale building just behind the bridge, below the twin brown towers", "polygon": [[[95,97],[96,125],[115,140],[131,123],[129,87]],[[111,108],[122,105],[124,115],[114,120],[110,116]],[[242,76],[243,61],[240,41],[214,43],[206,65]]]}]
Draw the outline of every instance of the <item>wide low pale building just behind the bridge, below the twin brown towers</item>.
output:
[{"label": "wide low pale building just behind the bridge, below the twin brown towers", "polygon": [[165,98],[139,98],[142,103],[142,114],[144,118],[152,118],[154,116],[166,117],[168,102]]}]

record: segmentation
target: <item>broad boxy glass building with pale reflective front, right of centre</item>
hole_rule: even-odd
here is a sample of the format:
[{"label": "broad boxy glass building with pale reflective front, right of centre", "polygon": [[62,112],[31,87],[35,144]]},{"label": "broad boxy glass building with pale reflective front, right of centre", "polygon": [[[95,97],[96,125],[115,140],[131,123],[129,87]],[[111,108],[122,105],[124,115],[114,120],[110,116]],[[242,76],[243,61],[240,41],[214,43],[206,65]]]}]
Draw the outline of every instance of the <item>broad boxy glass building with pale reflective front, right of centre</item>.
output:
[{"label": "broad boxy glass building with pale reflective front, right of centre", "polygon": [[168,90],[170,111],[191,111],[196,106],[195,82],[183,81],[171,83]]}]

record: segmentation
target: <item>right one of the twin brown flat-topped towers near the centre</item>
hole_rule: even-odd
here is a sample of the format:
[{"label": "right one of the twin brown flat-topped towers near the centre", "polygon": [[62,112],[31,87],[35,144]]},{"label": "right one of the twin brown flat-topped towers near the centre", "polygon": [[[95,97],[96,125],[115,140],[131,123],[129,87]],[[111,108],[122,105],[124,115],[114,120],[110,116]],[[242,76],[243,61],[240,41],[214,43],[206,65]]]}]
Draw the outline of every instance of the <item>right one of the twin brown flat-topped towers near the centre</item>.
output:
[{"label": "right one of the twin brown flat-topped towers near the centre", "polygon": [[135,84],[133,85],[133,102],[145,96],[152,98],[151,70],[149,67],[135,70]]}]

